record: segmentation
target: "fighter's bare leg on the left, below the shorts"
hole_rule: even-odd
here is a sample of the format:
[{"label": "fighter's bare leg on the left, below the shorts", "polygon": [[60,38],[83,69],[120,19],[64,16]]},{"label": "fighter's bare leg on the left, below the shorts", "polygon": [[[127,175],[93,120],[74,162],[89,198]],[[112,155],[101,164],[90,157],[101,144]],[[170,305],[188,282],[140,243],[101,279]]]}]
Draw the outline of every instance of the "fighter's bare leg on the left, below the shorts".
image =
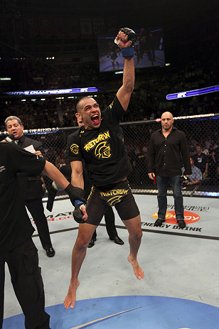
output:
[{"label": "fighter's bare leg on the left, below the shorts", "polygon": [[86,256],[87,246],[96,228],[96,225],[90,225],[87,223],[79,224],[78,237],[76,239],[75,246],[73,247],[72,254],[72,276],[70,279],[68,293],[64,300],[65,308],[69,308],[69,306],[70,308],[75,307],[76,291],[80,284],[78,274],[82,266],[82,262]]}]

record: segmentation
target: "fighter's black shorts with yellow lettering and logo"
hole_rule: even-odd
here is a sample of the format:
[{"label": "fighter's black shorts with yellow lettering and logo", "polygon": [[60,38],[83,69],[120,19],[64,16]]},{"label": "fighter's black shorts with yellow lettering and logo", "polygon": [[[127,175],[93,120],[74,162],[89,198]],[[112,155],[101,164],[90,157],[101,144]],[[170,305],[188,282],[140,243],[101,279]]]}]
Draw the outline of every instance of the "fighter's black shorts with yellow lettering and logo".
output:
[{"label": "fighter's black shorts with yellow lettering and logo", "polygon": [[99,225],[107,207],[115,207],[121,220],[131,220],[139,215],[139,208],[134,200],[127,180],[111,184],[108,188],[92,187],[87,198],[87,224]]}]

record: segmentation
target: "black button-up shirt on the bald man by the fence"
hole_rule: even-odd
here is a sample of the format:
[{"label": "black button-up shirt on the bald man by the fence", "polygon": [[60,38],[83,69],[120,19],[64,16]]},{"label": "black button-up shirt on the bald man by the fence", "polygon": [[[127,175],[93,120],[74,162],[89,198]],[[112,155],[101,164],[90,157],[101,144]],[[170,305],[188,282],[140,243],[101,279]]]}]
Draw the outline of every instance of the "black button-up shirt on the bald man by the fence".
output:
[{"label": "black button-up shirt on the bald man by the fence", "polygon": [[164,177],[181,175],[181,156],[185,175],[191,175],[190,155],[183,131],[173,127],[167,137],[164,137],[161,129],[151,134],[147,152],[148,173]]}]

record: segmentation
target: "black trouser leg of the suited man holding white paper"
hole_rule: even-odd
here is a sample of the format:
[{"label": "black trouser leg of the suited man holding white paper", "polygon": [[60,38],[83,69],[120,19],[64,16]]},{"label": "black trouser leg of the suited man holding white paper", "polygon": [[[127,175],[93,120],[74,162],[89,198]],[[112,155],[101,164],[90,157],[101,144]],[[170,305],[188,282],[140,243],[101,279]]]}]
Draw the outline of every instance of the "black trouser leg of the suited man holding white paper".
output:
[{"label": "black trouser leg of the suited man holding white paper", "polygon": [[50,249],[50,247],[52,247],[52,242],[50,240],[50,232],[48,230],[48,222],[44,214],[42,199],[37,198],[33,200],[24,200],[24,203],[28,208],[29,212],[31,212],[33,220],[36,223],[43,249]]}]

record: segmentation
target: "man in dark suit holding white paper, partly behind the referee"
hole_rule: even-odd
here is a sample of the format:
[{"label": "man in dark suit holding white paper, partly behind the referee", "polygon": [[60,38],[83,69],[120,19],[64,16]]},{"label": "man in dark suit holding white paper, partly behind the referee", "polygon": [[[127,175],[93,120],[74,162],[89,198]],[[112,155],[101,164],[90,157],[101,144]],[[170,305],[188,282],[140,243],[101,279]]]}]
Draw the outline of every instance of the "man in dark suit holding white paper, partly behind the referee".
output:
[{"label": "man in dark suit holding white paper, partly behind the referee", "polygon": [[[21,119],[15,116],[7,117],[5,124],[9,135],[14,135],[14,142],[18,144],[18,146],[21,146],[22,149],[26,149],[26,151],[31,151],[31,153],[34,153],[37,156],[46,158],[43,144],[40,141],[29,139],[27,136],[23,135],[23,125]],[[55,250],[53,249],[52,242],[50,240],[48,222],[44,214],[41,177],[31,175],[30,173],[18,173],[17,176],[24,203],[29,212],[31,212],[33,220],[36,223],[43,249],[46,250],[46,255],[48,257],[53,257],[55,255]]]}]

